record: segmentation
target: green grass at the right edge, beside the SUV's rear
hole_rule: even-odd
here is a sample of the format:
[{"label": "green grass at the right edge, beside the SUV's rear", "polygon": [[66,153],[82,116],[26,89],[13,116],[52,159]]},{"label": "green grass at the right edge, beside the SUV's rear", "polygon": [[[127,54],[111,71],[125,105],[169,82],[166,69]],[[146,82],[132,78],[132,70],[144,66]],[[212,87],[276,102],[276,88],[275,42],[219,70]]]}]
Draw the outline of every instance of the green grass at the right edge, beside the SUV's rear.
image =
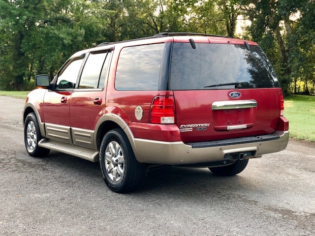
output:
[{"label": "green grass at the right edge, beside the SUV's rear", "polygon": [[315,142],[315,96],[284,98],[284,116],[289,120],[290,138]]}]

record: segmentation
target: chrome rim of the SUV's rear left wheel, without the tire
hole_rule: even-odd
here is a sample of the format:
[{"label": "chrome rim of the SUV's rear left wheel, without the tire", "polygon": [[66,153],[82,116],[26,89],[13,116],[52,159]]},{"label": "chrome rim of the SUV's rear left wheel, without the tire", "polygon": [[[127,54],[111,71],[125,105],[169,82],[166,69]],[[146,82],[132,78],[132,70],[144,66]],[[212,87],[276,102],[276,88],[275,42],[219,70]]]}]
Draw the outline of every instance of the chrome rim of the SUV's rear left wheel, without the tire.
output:
[{"label": "chrome rim of the SUV's rear left wheel, without the tire", "polygon": [[107,175],[114,182],[118,182],[124,176],[125,158],[120,145],[112,141],[105,150],[105,168]]}]

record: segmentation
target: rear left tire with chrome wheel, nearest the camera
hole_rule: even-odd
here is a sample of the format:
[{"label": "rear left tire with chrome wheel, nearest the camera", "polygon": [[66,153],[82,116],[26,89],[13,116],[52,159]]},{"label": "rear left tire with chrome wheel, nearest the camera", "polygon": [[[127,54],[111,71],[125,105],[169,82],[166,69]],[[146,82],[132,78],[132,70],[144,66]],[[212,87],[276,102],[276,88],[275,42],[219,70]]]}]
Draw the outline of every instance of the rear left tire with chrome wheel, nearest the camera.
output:
[{"label": "rear left tire with chrome wheel, nearest the camera", "polygon": [[146,165],[136,160],[121,129],[105,134],[99,152],[99,165],[106,185],[117,193],[134,191],[145,180]]}]

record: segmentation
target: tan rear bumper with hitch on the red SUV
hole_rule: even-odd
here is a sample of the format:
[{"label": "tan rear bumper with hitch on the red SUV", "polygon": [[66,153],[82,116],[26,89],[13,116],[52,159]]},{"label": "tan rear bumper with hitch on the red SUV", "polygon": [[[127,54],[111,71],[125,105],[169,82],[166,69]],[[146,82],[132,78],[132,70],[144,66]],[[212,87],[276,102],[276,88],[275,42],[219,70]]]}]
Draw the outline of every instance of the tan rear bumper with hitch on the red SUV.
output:
[{"label": "tan rear bumper with hitch on the red SUV", "polygon": [[[289,131],[276,131],[272,136],[274,137],[270,138],[270,135],[266,135],[266,137],[244,138],[244,140],[231,139],[230,144],[220,141],[217,144],[215,142],[184,144],[137,138],[133,141],[134,153],[139,162],[186,165],[231,160],[231,157],[240,156],[239,154],[244,159],[250,159],[284,150],[289,140]],[[246,153],[245,156],[243,153]]]}]

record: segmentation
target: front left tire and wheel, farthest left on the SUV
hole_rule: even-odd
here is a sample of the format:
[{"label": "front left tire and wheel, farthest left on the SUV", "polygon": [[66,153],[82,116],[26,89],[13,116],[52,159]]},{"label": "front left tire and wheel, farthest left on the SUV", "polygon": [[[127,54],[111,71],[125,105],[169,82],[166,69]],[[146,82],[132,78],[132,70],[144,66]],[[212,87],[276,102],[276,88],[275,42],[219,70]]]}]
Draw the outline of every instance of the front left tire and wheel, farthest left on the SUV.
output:
[{"label": "front left tire and wheel, farthest left on the SUV", "polygon": [[30,156],[44,157],[48,155],[50,149],[38,147],[38,142],[42,138],[37,118],[35,113],[32,112],[24,122],[24,143]]}]

